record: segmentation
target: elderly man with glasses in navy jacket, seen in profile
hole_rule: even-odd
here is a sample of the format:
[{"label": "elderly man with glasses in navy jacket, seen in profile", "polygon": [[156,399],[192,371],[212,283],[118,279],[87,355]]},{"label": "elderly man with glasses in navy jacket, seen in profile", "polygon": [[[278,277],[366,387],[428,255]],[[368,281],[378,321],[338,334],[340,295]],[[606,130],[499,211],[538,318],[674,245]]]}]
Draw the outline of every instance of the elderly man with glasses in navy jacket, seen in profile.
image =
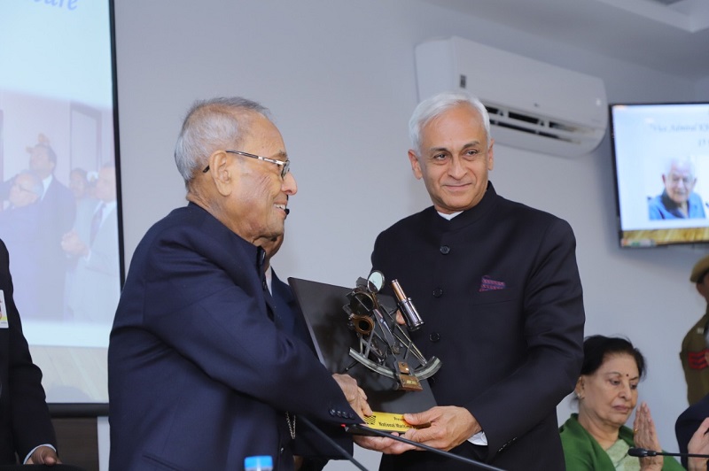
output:
[{"label": "elderly man with glasses in navy jacket, seen in profile", "polygon": [[283,234],[297,191],[283,138],[260,104],[218,98],[191,108],[175,161],[190,203],[138,245],[113,323],[110,467],[241,469],[270,455],[291,470],[298,416],[371,411],[280,325],[264,280],[254,243]]}]

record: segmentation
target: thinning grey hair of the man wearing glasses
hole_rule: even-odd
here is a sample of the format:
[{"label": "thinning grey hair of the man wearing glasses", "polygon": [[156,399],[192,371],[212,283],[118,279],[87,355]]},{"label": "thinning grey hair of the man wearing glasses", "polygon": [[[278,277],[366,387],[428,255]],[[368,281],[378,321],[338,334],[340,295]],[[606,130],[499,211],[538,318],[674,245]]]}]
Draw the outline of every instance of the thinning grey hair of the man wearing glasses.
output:
[{"label": "thinning grey hair of the man wearing glasses", "polygon": [[270,120],[267,108],[241,97],[219,97],[192,104],[175,144],[175,164],[185,184],[208,165],[212,152],[241,143],[253,113]]}]

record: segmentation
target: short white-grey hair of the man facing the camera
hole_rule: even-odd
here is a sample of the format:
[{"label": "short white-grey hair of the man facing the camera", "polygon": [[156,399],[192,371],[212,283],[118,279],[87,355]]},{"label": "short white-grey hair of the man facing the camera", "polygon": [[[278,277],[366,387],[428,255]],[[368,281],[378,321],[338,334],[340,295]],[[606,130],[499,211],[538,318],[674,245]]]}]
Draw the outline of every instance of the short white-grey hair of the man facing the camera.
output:
[{"label": "short white-grey hair of the man facing the camera", "polygon": [[443,112],[447,112],[451,108],[455,108],[460,104],[469,104],[474,110],[479,112],[485,126],[485,134],[487,136],[487,145],[490,144],[490,116],[487,114],[485,105],[480,102],[478,97],[473,97],[466,92],[443,92],[433,97],[426,98],[418,104],[416,110],[411,115],[409,120],[409,138],[411,145],[417,154],[421,154],[421,130],[432,119],[440,116]]}]

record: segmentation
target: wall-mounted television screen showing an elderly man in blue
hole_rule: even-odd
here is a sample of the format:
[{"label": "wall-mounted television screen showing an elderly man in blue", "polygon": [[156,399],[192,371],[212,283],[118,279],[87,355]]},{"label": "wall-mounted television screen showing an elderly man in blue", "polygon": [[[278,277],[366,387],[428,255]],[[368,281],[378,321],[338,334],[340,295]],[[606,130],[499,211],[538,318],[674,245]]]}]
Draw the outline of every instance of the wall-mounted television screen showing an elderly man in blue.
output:
[{"label": "wall-mounted television screen showing an elderly man in blue", "polygon": [[620,246],[709,242],[709,103],[609,108]]}]

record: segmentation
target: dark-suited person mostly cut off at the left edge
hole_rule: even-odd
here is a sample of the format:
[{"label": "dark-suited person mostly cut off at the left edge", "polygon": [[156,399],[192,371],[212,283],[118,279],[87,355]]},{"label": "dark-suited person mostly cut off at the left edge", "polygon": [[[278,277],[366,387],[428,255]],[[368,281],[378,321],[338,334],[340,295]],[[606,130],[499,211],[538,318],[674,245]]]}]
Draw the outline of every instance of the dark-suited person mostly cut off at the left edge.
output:
[{"label": "dark-suited person mostly cut off at the left edge", "polygon": [[12,298],[10,258],[0,241],[0,465],[55,465],[57,441]]}]

